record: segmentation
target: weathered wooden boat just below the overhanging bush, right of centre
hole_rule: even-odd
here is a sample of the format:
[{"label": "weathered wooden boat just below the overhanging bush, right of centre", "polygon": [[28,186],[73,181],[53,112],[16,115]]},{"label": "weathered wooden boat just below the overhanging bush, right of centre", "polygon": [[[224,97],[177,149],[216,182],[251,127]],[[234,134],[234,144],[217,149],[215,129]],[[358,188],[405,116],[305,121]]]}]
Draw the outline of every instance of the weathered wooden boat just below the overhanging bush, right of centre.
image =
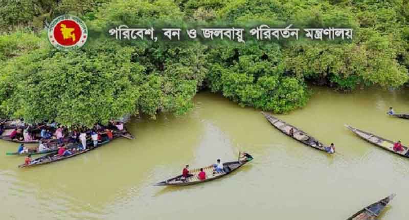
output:
[{"label": "weathered wooden boat just below the overhanging bush, right of centre", "polygon": [[[261,112],[261,114],[264,115],[264,117],[271,123],[272,126],[276,127],[277,129],[279,129],[282,133],[286,134],[287,136],[289,136],[289,137],[291,137],[293,139],[296,139],[297,141],[299,141],[299,142],[301,142],[301,143],[303,143],[303,144],[305,144],[307,146],[310,146],[310,147],[313,147],[315,149],[327,152],[326,147],[328,147],[328,146],[326,146],[323,143],[315,140],[315,138],[307,135],[307,133],[305,133],[304,131],[302,131],[302,130],[298,129],[297,127],[294,127],[294,126],[292,126],[290,124],[287,124],[286,122],[284,122],[284,121],[282,121],[282,120],[280,120],[280,119],[278,119],[278,118],[276,118],[276,117],[274,117],[274,116],[272,116],[270,114],[267,114],[267,113],[264,113],[264,112]],[[292,136],[290,135],[290,129],[291,128],[293,129],[293,135]]]}]

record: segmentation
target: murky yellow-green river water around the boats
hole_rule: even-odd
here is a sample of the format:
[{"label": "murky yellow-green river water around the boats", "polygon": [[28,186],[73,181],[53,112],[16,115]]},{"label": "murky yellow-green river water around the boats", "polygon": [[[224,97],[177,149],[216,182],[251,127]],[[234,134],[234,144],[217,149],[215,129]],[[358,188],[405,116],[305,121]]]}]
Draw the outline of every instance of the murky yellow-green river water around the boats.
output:
[{"label": "murky yellow-green river water around the boats", "polygon": [[[409,112],[409,90],[341,94],[313,88],[302,109],[277,117],[316,139],[335,143],[329,156],[283,135],[260,111],[208,92],[184,116],[134,118],[136,139],[115,140],[73,159],[19,169],[0,142],[0,219],[346,219],[395,192],[381,216],[409,214],[409,159],[373,146],[350,124],[409,145],[409,120],[390,118],[390,106]],[[222,179],[187,187],[153,183],[239,151],[254,160]]]}]

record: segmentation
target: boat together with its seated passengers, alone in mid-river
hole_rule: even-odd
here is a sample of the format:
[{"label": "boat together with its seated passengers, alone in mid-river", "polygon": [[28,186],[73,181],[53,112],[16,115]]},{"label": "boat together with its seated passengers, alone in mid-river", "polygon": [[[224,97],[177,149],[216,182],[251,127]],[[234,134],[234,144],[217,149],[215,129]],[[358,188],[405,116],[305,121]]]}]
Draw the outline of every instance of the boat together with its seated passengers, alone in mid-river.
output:
[{"label": "boat together with its seated passengers, alone in mid-river", "polygon": [[[197,183],[203,183],[219,179],[237,170],[244,164],[253,160],[253,157],[246,152],[239,153],[239,159],[237,161],[222,163],[222,166],[218,168],[218,164],[212,164],[203,168],[196,168],[193,170],[187,170],[189,165],[183,170],[181,175],[177,175],[166,181],[156,183],[155,186],[186,186]],[[220,163],[220,160],[217,160]]]}]

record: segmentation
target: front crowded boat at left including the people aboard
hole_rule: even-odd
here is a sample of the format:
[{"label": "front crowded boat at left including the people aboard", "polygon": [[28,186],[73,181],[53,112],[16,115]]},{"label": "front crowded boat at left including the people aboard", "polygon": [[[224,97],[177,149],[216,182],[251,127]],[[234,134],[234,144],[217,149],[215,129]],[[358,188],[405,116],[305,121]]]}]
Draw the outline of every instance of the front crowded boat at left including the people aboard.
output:
[{"label": "front crowded boat at left including the people aboard", "polygon": [[[93,135],[94,134],[92,134],[91,136]],[[105,145],[119,137],[126,137],[128,139],[133,139],[133,136],[129,134],[128,131],[126,131],[125,129],[118,130],[118,131],[116,130],[112,132],[111,136],[106,135],[105,137],[101,138],[101,140],[98,141],[98,143],[95,143],[94,140],[86,141],[85,149],[81,143],[75,142],[75,143],[70,143],[65,146],[59,147],[58,152],[49,153],[48,155],[44,155],[34,160],[28,159],[28,158],[31,158],[31,155],[29,155],[28,158],[26,158],[26,163],[21,164],[18,167],[20,168],[32,167],[32,166],[37,166],[40,164],[48,164],[48,163],[53,163],[53,162],[65,160],[68,158],[72,158],[77,155],[81,155],[82,153],[86,153],[90,150],[96,149],[102,145]]]}]

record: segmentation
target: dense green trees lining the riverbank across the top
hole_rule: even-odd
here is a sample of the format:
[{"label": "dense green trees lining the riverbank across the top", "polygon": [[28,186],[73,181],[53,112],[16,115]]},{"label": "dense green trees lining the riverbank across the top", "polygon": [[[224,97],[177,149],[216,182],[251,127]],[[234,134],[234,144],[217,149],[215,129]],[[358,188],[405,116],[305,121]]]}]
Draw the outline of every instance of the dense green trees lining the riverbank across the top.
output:
[{"label": "dense green trees lining the riverbank across the top", "polygon": [[[71,14],[89,39],[50,45],[44,24]],[[349,27],[352,40],[119,41],[117,25]],[[92,126],[123,115],[185,114],[201,90],[274,113],[308,85],[352,91],[409,81],[409,0],[0,0],[0,117]]]}]

